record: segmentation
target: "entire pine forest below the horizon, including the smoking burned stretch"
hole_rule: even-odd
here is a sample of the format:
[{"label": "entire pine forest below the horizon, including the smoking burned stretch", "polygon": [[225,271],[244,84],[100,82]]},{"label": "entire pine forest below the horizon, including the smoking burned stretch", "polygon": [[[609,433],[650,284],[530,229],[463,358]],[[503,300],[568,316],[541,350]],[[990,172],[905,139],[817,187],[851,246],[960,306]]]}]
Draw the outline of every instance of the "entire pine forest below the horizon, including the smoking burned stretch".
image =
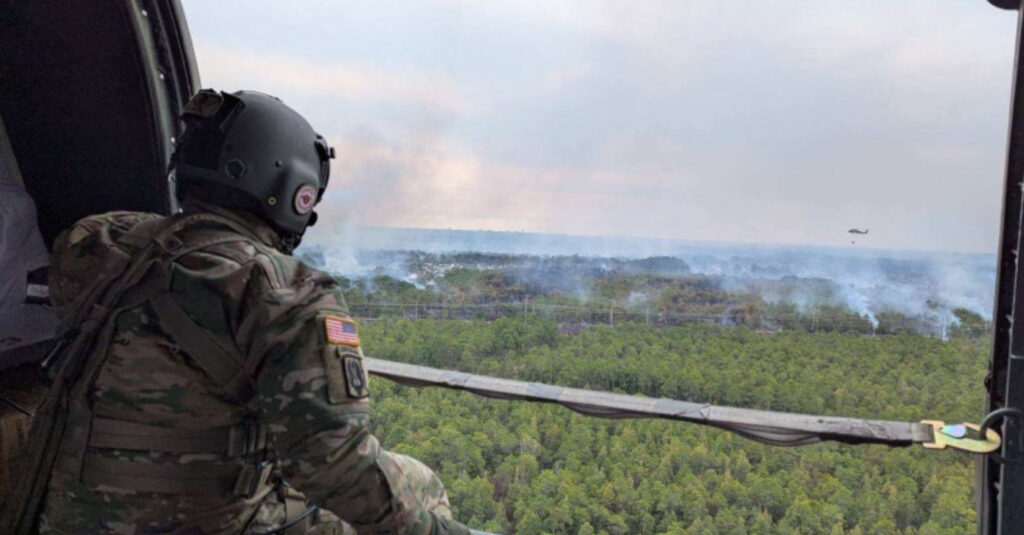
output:
[{"label": "entire pine forest below the horizon, including the smoking burned stretch", "polygon": [[[983,412],[990,325],[938,291],[927,262],[879,261],[873,293],[858,294],[849,281],[746,258],[733,263],[749,276],[730,278],[677,257],[362,254],[373,268],[335,276],[368,356],[787,412],[949,422]],[[304,259],[325,257],[311,250]],[[872,302],[887,284],[928,291]],[[973,459],[959,452],[787,449],[696,424],[585,417],[383,379],[371,390],[385,447],[437,469],[457,517],[477,529],[975,531]]]}]

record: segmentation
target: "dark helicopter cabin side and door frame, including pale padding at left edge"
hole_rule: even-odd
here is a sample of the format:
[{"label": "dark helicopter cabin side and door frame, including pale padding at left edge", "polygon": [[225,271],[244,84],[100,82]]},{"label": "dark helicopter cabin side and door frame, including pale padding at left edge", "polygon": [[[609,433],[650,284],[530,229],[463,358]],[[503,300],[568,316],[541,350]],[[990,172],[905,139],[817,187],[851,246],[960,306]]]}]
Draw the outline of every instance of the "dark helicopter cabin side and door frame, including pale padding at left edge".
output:
[{"label": "dark helicopter cabin side and door frame, including pale padding at left edge", "polygon": [[0,369],[52,337],[53,315],[26,303],[45,275],[33,296],[27,278],[60,231],[171,209],[167,163],[197,83],[176,0],[0,0]]}]

